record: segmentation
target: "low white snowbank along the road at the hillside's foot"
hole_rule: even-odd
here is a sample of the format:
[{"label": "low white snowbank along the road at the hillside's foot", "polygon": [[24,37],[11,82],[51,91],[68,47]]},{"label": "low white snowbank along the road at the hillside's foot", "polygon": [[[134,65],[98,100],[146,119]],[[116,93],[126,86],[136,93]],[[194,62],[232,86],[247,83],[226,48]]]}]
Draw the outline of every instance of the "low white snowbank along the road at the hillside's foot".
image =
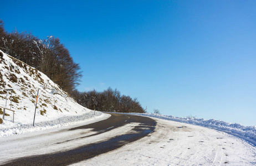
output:
[{"label": "low white snowbank along the road at the hillside's foot", "polygon": [[89,123],[105,120],[106,118],[109,118],[109,117],[110,115],[106,113],[95,111],[95,114],[94,114],[94,111],[90,111],[88,113],[85,113],[79,116],[64,116],[52,121],[35,123],[34,126],[33,124],[23,125],[21,123],[16,123],[16,125],[13,127],[0,129],[0,137],[12,136],[14,134],[42,131],[50,128],[78,125],[81,123],[89,124]]}]

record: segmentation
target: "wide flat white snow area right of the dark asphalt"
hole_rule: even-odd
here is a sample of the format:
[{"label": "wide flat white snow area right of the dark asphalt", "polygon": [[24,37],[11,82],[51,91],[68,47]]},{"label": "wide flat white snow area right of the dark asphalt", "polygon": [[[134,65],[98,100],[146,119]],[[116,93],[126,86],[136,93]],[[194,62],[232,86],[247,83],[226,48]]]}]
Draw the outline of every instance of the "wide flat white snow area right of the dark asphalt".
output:
[{"label": "wide flat white snow area right of the dark asphalt", "polygon": [[157,121],[149,137],[78,165],[256,165],[256,148],[211,128]]}]

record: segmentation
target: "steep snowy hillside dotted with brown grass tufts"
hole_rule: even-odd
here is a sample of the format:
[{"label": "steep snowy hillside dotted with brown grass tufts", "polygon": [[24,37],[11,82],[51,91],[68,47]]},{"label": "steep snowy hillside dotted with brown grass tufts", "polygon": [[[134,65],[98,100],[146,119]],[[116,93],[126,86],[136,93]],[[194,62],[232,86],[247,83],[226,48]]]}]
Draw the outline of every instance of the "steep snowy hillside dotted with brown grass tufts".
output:
[{"label": "steep snowy hillside dotted with brown grass tufts", "polygon": [[[0,50],[0,106],[6,106],[6,89],[13,89],[12,110],[15,110],[14,123],[13,112],[6,110],[3,123],[0,124],[0,136],[8,136],[14,133],[22,133],[19,128],[27,128],[33,125],[35,102],[39,89],[35,126],[40,122],[41,127],[45,121],[54,121],[50,126],[58,126],[65,120],[73,120],[70,116],[82,116],[73,121],[84,121],[95,117],[94,112],[74,101],[73,98],[54,84],[46,75],[35,68],[19,61],[12,56],[4,54]],[[8,91],[7,108],[11,107],[11,91]],[[0,108],[2,119],[3,108]],[[102,113],[97,112],[96,116]],[[1,120],[0,120],[1,121]],[[58,124],[57,124],[58,123]],[[63,124],[62,124],[63,125]],[[27,126],[27,127],[24,127]],[[49,126],[49,124],[48,124]],[[13,130],[16,128],[16,130]],[[16,131],[16,132],[15,132]],[[19,132],[17,132],[19,131]]]}]

